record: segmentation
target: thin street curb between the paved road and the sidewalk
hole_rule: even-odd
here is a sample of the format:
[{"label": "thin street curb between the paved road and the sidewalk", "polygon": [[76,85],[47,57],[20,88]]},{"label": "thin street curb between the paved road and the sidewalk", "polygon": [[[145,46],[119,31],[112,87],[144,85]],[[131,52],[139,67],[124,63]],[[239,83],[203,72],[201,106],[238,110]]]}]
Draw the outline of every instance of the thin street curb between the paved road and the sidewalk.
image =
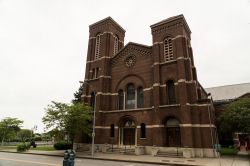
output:
[{"label": "thin street curb between the paved road and the sidewalk", "polygon": [[[33,153],[33,152],[11,152],[11,151],[5,151],[0,150],[0,152],[5,153],[18,153],[18,154],[31,154],[31,155],[41,155],[41,156],[55,156],[55,157],[63,157],[63,155],[57,155],[57,154],[42,154],[42,153]],[[76,158],[81,159],[90,159],[90,160],[106,160],[106,161],[116,161],[116,162],[128,162],[128,163],[142,163],[142,164],[156,164],[156,165],[174,165],[174,166],[202,166],[197,164],[179,164],[179,163],[172,163],[172,162],[151,162],[151,161],[139,161],[139,160],[123,160],[123,159],[110,159],[110,158],[99,158],[99,157],[86,157],[86,156],[77,156]]]}]

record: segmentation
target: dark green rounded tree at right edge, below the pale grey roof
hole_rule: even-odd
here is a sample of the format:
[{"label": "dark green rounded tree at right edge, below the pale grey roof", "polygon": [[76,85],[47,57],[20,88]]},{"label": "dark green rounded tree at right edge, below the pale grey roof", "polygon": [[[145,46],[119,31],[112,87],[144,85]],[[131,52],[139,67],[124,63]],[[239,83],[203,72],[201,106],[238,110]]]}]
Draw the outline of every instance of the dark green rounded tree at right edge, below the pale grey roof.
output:
[{"label": "dark green rounded tree at right edge, below the pale grey roof", "polygon": [[250,98],[242,98],[229,104],[219,117],[221,132],[250,134]]}]

